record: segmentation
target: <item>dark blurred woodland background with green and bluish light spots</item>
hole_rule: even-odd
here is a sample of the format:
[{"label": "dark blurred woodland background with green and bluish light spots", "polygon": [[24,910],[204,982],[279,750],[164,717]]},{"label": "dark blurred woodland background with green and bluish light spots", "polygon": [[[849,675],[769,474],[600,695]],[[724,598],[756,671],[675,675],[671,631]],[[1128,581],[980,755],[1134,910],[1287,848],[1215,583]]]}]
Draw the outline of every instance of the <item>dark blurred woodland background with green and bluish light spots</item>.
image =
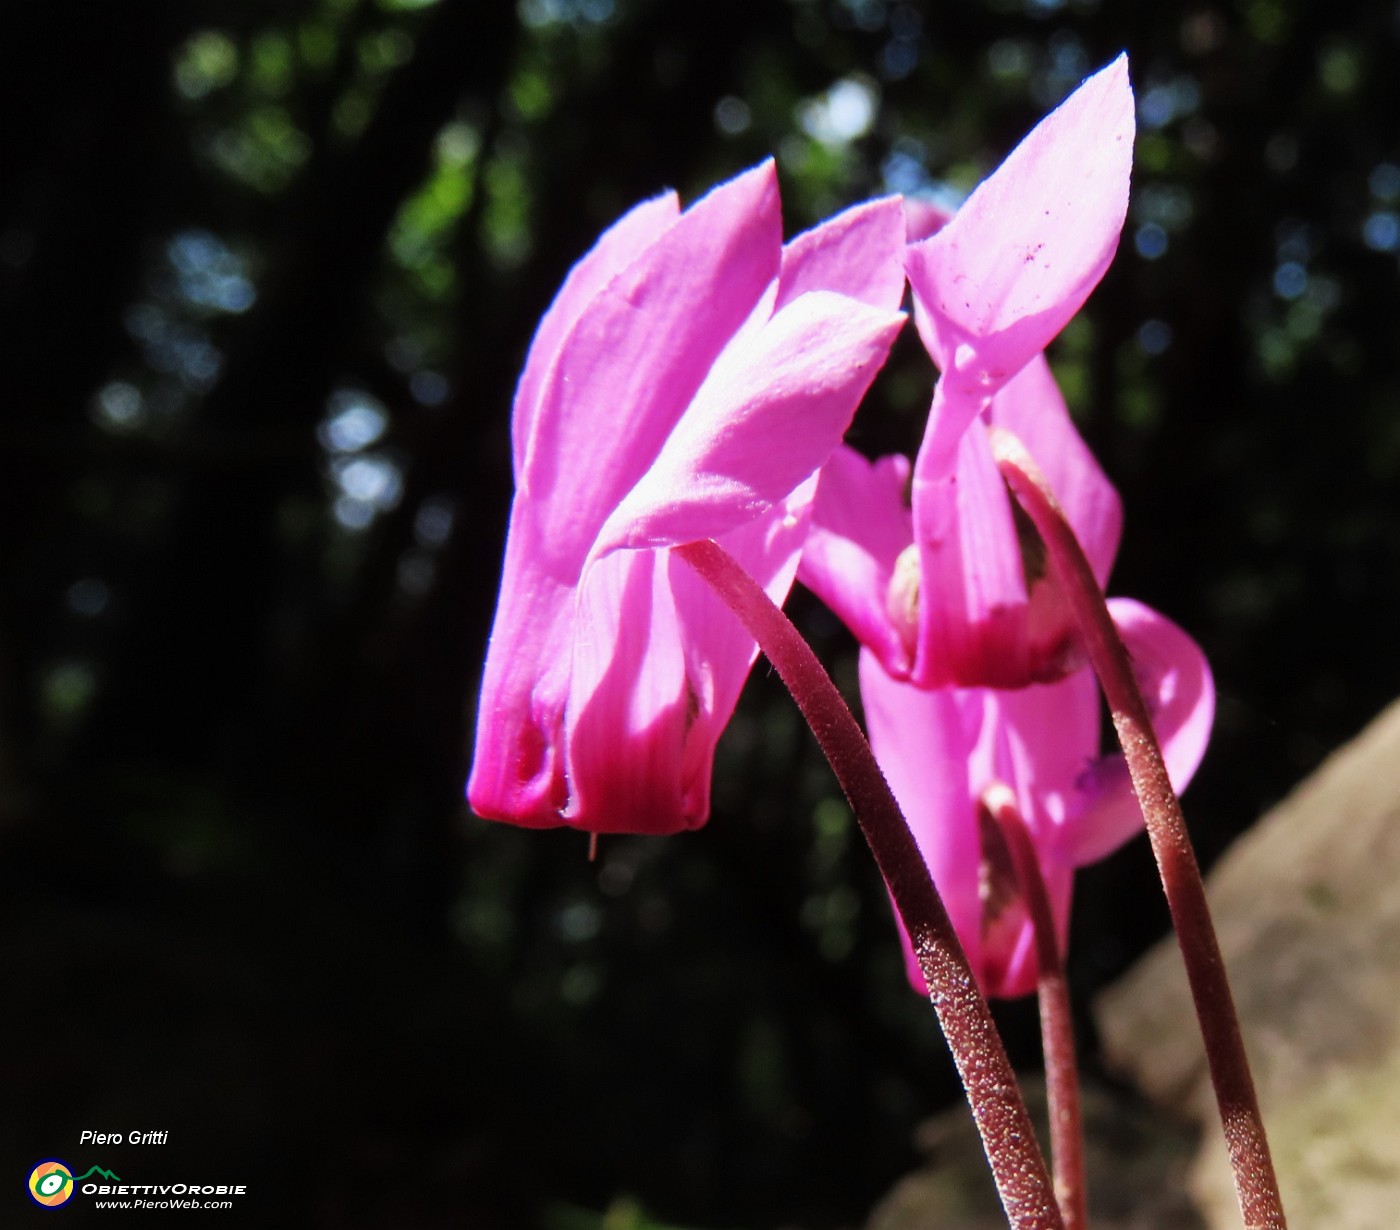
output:
[{"label": "dark blurred woodland background with green and bluish light spots", "polygon": [[[512,383],[634,200],[769,153],[790,232],[955,197],[1123,48],[1133,211],[1053,360],[1112,589],[1217,672],[1210,861],[1397,691],[1393,4],[0,8],[0,1220],[43,1157],[246,1182],[224,1224],[862,1219],[958,1094],[766,669],[697,834],[462,802]],[[854,439],[930,381],[910,336]],[[1163,928],[1144,842],[1084,873],[1081,1006]]]}]

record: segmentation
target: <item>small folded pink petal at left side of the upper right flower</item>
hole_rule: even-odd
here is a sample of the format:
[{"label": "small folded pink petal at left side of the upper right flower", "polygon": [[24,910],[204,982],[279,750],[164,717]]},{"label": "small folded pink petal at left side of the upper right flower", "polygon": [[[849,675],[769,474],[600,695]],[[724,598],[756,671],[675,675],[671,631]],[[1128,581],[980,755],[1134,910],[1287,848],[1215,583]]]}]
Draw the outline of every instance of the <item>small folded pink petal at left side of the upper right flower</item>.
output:
[{"label": "small folded pink petal at left side of the upper right flower", "polygon": [[888,603],[896,563],[913,540],[907,483],[906,458],[868,462],[846,445],[836,449],[822,467],[797,572],[896,679],[910,666]]}]

